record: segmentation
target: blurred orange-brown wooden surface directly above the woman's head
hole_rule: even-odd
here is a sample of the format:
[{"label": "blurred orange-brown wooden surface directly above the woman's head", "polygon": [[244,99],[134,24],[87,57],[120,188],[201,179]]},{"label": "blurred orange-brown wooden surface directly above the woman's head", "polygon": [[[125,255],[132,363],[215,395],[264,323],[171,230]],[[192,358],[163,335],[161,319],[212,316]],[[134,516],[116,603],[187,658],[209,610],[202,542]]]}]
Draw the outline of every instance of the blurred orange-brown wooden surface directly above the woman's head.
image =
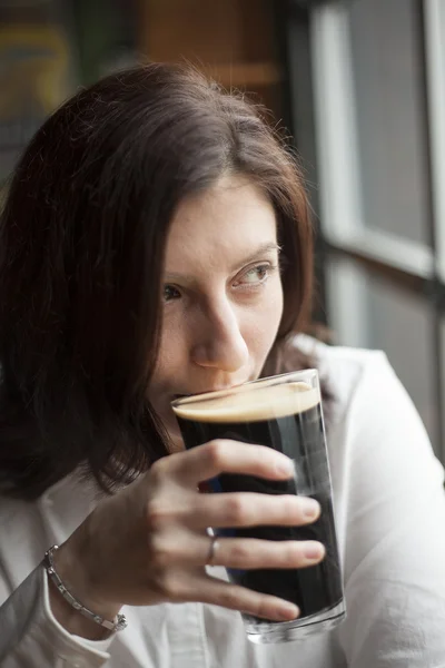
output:
[{"label": "blurred orange-brown wooden surface directly above the woman's head", "polygon": [[140,0],[139,51],[151,61],[191,62],[279,116],[281,68],[274,0]]}]

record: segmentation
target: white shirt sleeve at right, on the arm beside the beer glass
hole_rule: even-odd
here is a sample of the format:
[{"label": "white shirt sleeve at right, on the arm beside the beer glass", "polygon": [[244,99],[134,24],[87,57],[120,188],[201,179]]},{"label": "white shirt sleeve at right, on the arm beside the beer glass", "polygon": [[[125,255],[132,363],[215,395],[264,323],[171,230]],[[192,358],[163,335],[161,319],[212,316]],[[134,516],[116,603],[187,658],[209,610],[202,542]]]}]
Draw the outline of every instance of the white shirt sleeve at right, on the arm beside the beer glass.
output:
[{"label": "white shirt sleeve at right, on the arm beside the beer glass", "polygon": [[338,628],[350,668],[445,666],[444,472],[383,353],[352,399],[345,595]]}]

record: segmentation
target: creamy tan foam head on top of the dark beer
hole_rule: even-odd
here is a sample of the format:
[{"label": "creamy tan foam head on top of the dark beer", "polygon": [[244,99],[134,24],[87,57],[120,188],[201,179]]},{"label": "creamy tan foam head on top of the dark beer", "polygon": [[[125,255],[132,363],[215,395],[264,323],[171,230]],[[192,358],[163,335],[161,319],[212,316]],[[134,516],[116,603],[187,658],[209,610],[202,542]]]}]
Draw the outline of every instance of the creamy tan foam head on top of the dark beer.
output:
[{"label": "creamy tan foam head on top of the dark beer", "polygon": [[291,382],[257,389],[243,385],[233,392],[190,396],[172,409],[178,418],[197,422],[259,422],[303,413],[318,403],[318,390]]}]

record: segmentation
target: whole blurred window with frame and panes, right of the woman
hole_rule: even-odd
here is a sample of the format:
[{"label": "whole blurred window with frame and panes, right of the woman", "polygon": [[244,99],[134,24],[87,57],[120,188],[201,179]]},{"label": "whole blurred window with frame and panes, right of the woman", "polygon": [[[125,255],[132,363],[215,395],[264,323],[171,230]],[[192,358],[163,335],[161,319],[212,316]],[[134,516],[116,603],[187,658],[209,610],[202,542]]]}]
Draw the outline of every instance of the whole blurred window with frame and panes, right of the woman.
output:
[{"label": "whole blurred window with frame and panes, right of the woman", "polygon": [[319,184],[325,320],[387,353],[445,463],[445,2],[290,0],[301,33],[290,99],[313,100],[312,149],[307,102],[293,130]]}]

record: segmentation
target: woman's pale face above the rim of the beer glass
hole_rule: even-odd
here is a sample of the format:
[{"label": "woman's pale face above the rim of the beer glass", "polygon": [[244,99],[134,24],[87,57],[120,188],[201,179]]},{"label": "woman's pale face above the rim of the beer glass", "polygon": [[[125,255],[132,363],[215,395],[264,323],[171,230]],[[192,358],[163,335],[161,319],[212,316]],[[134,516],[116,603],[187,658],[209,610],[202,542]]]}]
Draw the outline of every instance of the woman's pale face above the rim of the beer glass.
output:
[{"label": "woman's pale face above the rim of the beer glass", "polygon": [[281,318],[275,212],[247,179],[225,177],[180,204],[167,239],[162,298],[149,399],[179,445],[170,402],[257,379]]}]

